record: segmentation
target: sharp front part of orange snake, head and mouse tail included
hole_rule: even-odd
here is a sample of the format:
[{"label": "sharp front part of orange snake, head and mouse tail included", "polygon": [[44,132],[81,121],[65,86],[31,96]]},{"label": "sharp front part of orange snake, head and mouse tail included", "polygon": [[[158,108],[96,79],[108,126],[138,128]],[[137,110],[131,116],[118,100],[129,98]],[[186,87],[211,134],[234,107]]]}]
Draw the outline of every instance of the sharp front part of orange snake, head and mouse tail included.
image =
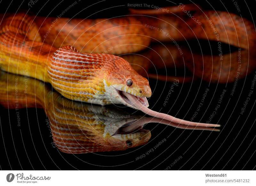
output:
[{"label": "sharp front part of orange snake, head and mouse tail included", "polygon": [[[74,47],[59,49],[40,42],[37,26],[30,17],[14,16],[2,24],[2,65],[4,71],[50,82],[63,96],[94,104],[124,104],[170,122],[194,126],[196,123],[148,109],[151,89],[148,80],[121,57],[79,53]],[[137,101],[135,101],[137,100]],[[140,103],[140,104],[138,104]]]}]

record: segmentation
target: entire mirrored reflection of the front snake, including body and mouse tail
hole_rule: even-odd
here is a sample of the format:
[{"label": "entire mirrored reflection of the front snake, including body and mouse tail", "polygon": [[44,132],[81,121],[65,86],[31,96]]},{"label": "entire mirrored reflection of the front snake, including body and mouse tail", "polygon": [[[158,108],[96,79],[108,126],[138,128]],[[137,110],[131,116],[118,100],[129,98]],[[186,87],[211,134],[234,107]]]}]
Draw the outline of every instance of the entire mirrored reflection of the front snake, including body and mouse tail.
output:
[{"label": "entire mirrored reflection of the front snake, including body and mouse tail", "polygon": [[[130,115],[110,107],[68,100],[39,80],[5,72],[0,72],[0,104],[7,109],[44,108],[49,118],[53,142],[65,153],[126,150],[146,144],[150,139],[150,131],[141,129],[141,123],[169,124],[161,119]],[[174,123],[171,126],[218,131]]]}]

